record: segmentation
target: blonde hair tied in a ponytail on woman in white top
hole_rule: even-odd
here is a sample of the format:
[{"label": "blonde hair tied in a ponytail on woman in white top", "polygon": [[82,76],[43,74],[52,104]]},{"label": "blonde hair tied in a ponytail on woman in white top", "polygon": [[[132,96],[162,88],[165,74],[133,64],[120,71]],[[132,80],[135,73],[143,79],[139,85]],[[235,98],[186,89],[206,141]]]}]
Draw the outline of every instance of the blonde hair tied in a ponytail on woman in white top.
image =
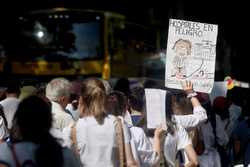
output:
[{"label": "blonde hair tied in a ponytail on woman in white top", "polygon": [[102,81],[96,78],[84,80],[81,97],[87,107],[87,114],[94,116],[96,121],[102,124],[106,116],[106,93]]}]

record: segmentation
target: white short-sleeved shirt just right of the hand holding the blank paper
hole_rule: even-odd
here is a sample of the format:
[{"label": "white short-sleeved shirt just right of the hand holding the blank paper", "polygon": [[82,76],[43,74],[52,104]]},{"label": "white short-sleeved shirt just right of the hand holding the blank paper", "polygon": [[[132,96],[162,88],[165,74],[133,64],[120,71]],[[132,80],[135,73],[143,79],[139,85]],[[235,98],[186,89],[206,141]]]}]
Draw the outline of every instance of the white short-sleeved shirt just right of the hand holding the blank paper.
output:
[{"label": "white short-sleeved shirt just right of the hand holding the blank paper", "polygon": [[173,135],[167,134],[164,141],[164,156],[169,167],[175,167],[176,154],[192,144],[186,130],[176,124],[176,131]]}]

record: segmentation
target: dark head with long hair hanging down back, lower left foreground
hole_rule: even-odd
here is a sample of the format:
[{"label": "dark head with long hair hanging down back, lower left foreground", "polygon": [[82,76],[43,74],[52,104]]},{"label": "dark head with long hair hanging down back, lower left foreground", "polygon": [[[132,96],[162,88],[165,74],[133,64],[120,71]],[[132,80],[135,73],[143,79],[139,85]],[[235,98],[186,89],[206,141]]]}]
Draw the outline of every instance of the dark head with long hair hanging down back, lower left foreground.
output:
[{"label": "dark head with long hair hanging down back, lower left foreground", "polygon": [[52,124],[49,103],[38,96],[29,96],[20,102],[14,120],[14,128],[20,129],[22,140],[38,145],[35,152],[38,167],[62,166],[62,148],[49,132]]}]

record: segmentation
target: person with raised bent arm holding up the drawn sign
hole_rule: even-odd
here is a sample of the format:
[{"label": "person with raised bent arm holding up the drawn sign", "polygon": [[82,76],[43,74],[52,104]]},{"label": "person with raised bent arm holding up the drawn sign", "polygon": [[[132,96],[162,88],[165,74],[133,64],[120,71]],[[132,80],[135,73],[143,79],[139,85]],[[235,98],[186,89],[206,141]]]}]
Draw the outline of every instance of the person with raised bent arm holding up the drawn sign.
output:
[{"label": "person with raised bent arm holding up the drawn sign", "polygon": [[[171,107],[173,110],[172,119],[176,124],[185,128],[192,140],[192,144],[196,147],[198,137],[198,126],[207,120],[206,110],[201,106],[197,93],[193,90],[191,81],[181,83],[183,90],[170,90]],[[184,162],[188,161],[184,152]]]}]

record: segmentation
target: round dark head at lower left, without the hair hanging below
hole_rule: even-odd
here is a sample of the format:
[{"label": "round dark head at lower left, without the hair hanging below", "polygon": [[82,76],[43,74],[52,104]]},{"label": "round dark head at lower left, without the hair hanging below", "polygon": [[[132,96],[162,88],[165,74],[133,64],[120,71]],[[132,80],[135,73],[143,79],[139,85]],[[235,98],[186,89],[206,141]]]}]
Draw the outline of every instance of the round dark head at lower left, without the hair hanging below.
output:
[{"label": "round dark head at lower left, without the hair hanging below", "polygon": [[14,119],[23,139],[37,142],[51,127],[51,106],[38,96],[27,97],[20,102]]}]

